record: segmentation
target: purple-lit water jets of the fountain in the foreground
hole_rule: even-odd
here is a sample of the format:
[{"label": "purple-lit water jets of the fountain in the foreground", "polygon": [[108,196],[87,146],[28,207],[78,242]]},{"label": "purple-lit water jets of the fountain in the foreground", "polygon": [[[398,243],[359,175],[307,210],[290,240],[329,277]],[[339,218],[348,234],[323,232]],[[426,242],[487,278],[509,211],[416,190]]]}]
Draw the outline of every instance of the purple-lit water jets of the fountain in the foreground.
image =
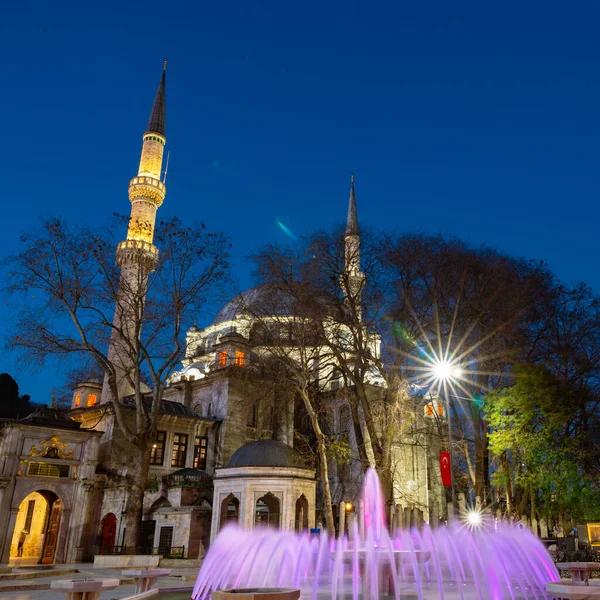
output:
[{"label": "purple-lit water jets of the fountain in the foreground", "polygon": [[268,528],[224,528],[207,553],[192,598],[211,590],[294,587],[312,600],[400,598],[547,598],[558,572],[529,530],[484,523],[386,528],[381,488],[369,470],[363,486],[365,539],[355,521],[350,536],[311,538]]}]

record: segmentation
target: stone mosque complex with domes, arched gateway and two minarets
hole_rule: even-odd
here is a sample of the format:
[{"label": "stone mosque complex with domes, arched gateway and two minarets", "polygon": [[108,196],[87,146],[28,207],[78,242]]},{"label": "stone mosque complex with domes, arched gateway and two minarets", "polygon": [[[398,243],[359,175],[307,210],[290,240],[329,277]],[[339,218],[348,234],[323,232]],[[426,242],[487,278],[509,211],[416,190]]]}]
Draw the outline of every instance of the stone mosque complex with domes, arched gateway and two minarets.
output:
[{"label": "stone mosque complex with domes, arched gateway and two minarets", "polygon": [[[151,270],[158,253],[153,231],[166,196],[161,179],[165,97],[166,64],[143,134],[138,174],[129,185],[131,220],[117,247],[122,278]],[[354,181],[345,240],[355,257],[347,259],[348,280],[362,285]],[[250,289],[224,306],[208,327],[187,332],[185,359],[162,400],[144,495],[141,550],[135,550],[151,560],[137,565],[197,561],[230,521],[292,531],[322,522],[315,470],[295,452],[301,407],[293,398],[278,397],[276,387],[246,376],[248,366],[264,352],[259,321],[270,316],[247,309],[261,305],[268,294],[264,287]],[[379,340],[373,351],[379,351]],[[109,356],[120,360],[118,340],[111,340]],[[344,384],[335,377],[329,381],[329,433],[344,437],[357,456]],[[385,382],[375,373],[368,385],[377,393]],[[123,379],[119,398],[133,411],[129,394]],[[1,563],[134,564],[123,547],[130,465],[113,401],[106,380],[84,381],[73,392],[68,414],[51,407],[3,423]],[[437,416],[432,408],[423,401],[413,426],[393,442],[396,514],[412,511],[425,521],[438,519],[445,506],[437,468],[439,436],[428,426]],[[336,518],[343,523],[340,512],[358,501],[362,468],[354,458],[350,464],[332,462],[329,468]]]}]

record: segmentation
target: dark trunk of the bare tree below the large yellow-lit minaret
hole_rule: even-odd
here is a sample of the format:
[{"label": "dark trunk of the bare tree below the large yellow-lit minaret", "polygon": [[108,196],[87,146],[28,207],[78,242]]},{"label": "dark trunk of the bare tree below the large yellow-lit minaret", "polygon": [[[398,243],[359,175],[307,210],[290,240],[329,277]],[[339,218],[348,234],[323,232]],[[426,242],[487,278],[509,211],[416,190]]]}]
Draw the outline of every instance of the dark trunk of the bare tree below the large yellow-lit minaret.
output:
[{"label": "dark trunk of the bare tree below the large yellow-lit minaret", "polygon": [[[131,482],[125,505],[125,546],[138,547],[144,508],[144,491],[150,470],[151,445],[147,437],[140,436],[136,444],[131,445],[131,462],[127,479]],[[137,552],[137,550],[136,550]]]}]

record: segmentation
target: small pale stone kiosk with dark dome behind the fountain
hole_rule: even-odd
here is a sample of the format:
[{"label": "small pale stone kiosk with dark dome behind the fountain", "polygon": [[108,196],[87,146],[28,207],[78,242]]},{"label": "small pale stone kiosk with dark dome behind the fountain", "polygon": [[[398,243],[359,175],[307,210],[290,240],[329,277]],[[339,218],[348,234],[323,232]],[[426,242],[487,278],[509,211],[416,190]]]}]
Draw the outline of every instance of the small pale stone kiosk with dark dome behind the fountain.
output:
[{"label": "small pale stone kiosk with dark dome behind the fountain", "polygon": [[304,531],[315,524],[315,471],[276,440],[238,448],[214,477],[211,541],[229,523]]}]

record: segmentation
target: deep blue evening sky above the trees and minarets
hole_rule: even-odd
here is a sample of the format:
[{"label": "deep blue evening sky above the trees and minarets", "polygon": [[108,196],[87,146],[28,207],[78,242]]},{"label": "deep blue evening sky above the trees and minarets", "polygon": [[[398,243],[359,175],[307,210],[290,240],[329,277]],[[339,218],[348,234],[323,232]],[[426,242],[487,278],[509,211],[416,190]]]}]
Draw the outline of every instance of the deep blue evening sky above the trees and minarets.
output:
[{"label": "deep blue evening sky above the trees and minarets", "polygon": [[[345,217],[546,260],[600,290],[600,3],[48,2],[0,19],[0,257],[40,214],[129,210],[167,77],[163,214],[244,257]],[[0,318],[3,318],[3,313]],[[4,354],[23,393],[63,375]]]}]

